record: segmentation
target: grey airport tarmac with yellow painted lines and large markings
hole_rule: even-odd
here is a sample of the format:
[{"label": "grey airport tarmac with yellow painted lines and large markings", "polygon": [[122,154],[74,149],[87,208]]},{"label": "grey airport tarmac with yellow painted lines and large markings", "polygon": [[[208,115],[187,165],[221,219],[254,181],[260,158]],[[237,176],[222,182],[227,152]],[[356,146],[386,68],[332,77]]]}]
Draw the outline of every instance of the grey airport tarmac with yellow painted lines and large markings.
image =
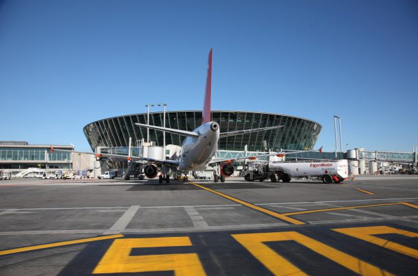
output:
[{"label": "grey airport tarmac with yellow painted lines and large markings", "polygon": [[416,275],[418,175],[0,181],[0,275]]}]

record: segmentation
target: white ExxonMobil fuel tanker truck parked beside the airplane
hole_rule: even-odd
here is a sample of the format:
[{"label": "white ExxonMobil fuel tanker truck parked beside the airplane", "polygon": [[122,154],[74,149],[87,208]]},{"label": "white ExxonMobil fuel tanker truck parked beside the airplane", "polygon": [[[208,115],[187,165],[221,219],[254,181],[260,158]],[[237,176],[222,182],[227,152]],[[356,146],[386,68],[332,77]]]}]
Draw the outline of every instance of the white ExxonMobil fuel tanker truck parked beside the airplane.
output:
[{"label": "white ExxonMobil fuel tanker truck parked beside the airplane", "polygon": [[[276,178],[277,176],[277,178]],[[323,183],[340,183],[348,177],[347,160],[323,162],[269,162],[262,169],[245,174],[247,181],[271,179],[272,182],[290,182],[297,177],[319,177]]]}]

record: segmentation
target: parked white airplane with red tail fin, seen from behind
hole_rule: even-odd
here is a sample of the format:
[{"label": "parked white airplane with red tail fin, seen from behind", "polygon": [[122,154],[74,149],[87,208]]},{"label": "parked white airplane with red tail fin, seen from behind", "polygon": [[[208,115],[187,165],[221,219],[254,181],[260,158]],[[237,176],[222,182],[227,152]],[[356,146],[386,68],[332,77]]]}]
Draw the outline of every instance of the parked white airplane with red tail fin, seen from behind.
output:
[{"label": "parked white airplane with red tail fin, seen from behind", "polygon": [[[215,170],[214,173],[214,181],[221,182],[225,181],[225,177],[229,177],[234,173],[234,166],[232,163],[236,160],[254,160],[259,157],[267,157],[267,156],[284,156],[284,154],[293,154],[293,153],[301,153],[301,152],[308,152],[308,151],[292,151],[290,153],[269,153],[265,155],[254,155],[254,156],[246,156],[243,158],[234,158],[231,159],[212,159],[214,154],[218,148],[218,141],[219,138],[228,137],[228,136],[236,136],[236,135],[243,135],[249,134],[252,132],[257,131],[266,131],[270,129],[279,129],[283,127],[282,125],[277,125],[273,127],[262,127],[256,129],[243,129],[237,131],[229,131],[229,132],[220,132],[219,131],[219,124],[217,122],[212,121],[211,113],[210,113],[210,103],[211,103],[211,88],[212,88],[212,49],[209,52],[208,58],[208,72],[206,77],[206,90],[204,95],[204,107],[202,110],[202,122],[199,127],[197,127],[193,131],[186,131],[181,129],[172,129],[169,127],[159,127],[156,125],[146,125],[141,123],[136,123],[138,127],[147,127],[149,129],[156,129],[159,131],[165,131],[172,134],[180,134],[181,136],[186,136],[186,138],[182,142],[182,146],[178,154],[173,156],[172,160],[163,160],[163,159],[156,159],[156,158],[140,158],[138,156],[131,156],[131,155],[115,155],[115,154],[101,154],[101,153],[88,153],[88,154],[95,154],[97,158],[116,158],[116,159],[123,159],[123,160],[143,160],[147,161],[148,164],[144,168],[145,176],[148,178],[154,178],[158,175],[158,166],[162,166],[162,174],[160,174],[159,182],[162,183],[163,180],[166,183],[170,181],[170,172],[173,173],[175,171],[202,171],[208,166],[217,166],[218,171]],[[53,151],[53,147],[51,146],[51,152]],[[55,149],[56,151],[66,151],[62,149]],[[317,150],[312,150],[317,151]],[[319,149],[321,151],[321,149]],[[76,151],[73,151],[76,152]],[[217,174],[219,173],[219,174]]]}]

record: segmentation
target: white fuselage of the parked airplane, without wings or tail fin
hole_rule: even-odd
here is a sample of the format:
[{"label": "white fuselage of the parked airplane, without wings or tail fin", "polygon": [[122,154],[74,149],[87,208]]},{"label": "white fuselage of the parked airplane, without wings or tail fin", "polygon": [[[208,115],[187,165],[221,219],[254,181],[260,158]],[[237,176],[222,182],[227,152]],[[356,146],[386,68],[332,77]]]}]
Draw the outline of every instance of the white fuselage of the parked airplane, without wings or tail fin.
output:
[{"label": "white fuselage of the parked airplane, without wings or tail fin", "polygon": [[199,137],[187,136],[182,142],[178,158],[179,171],[204,170],[218,149],[219,125],[208,122],[194,130]]}]

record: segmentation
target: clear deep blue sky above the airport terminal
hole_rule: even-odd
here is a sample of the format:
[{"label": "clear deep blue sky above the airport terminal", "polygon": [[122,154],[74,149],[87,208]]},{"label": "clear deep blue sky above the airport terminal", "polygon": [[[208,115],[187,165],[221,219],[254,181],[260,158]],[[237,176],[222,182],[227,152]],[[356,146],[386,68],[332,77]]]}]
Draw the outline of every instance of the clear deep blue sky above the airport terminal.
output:
[{"label": "clear deep blue sky above the airport terminal", "polygon": [[[418,1],[0,1],[0,140],[89,150],[84,125],[201,109],[300,116],[334,149],[418,145]],[[158,110],[156,110],[158,111]]]}]

